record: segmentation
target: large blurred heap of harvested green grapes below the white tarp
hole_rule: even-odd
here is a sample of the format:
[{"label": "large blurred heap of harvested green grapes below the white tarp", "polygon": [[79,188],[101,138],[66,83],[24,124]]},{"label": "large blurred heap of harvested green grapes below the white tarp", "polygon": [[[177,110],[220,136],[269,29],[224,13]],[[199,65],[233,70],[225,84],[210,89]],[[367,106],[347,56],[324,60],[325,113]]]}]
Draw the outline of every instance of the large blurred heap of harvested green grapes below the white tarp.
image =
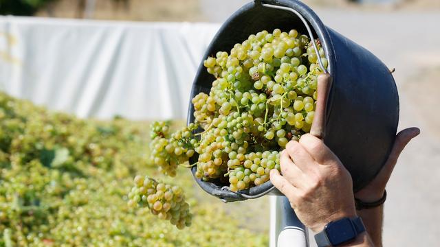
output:
[{"label": "large blurred heap of harvested green grapes below the white tarp", "polygon": [[[196,201],[186,169],[156,184],[148,124],[78,119],[0,92],[0,247],[267,246],[267,233],[250,231],[225,205],[204,194]],[[156,215],[127,204],[135,174],[148,174],[135,179],[146,191],[135,193]]]}]

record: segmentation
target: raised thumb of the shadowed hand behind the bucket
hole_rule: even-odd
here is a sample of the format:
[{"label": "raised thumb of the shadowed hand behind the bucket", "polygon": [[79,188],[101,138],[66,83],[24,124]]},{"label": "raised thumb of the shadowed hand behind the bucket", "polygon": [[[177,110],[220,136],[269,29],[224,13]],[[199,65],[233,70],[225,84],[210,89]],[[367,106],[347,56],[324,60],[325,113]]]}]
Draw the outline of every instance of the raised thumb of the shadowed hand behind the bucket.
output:
[{"label": "raised thumb of the shadowed hand behind the bucket", "polygon": [[391,172],[397,163],[397,158],[401,154],[402,150],[404,150],[406,144],[408,144],[412,138],[417,137],[420,134],[420,129],[416,127],[406,128],[401,130],[394,141],[393,149],[391,150],[390,156],[388,156],[388,160],[386,161],[382,171],[380,173],[381,176],[391,176]]}]

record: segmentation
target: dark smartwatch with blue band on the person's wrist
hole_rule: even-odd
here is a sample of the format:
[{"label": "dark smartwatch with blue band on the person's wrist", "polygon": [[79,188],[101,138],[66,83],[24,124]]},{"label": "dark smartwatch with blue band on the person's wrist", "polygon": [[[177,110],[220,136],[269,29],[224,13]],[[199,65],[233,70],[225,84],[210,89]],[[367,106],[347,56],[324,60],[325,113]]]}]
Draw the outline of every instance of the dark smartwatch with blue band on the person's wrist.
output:
[{"label": "dark smartwatch with blue band on the person's wrist", "polygon": [[318,247],[338,246],[354,240],[364,231],[364,222],[360,217],[343,217],[325,225],[324,230],[315,235],[315,241]]}]

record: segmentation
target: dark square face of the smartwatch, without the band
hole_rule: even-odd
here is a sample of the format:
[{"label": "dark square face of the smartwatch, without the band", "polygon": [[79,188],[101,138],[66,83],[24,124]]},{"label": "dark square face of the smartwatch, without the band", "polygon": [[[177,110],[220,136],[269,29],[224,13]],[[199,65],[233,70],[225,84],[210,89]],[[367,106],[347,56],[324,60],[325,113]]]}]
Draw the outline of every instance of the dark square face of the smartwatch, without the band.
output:
[{"label": "dark square face of the smartwatch, without the band", "polygon": [[349,218],[330,222],[325,227],[327,237],[333,246],[350,241],[356,237],[356,231]]}]

